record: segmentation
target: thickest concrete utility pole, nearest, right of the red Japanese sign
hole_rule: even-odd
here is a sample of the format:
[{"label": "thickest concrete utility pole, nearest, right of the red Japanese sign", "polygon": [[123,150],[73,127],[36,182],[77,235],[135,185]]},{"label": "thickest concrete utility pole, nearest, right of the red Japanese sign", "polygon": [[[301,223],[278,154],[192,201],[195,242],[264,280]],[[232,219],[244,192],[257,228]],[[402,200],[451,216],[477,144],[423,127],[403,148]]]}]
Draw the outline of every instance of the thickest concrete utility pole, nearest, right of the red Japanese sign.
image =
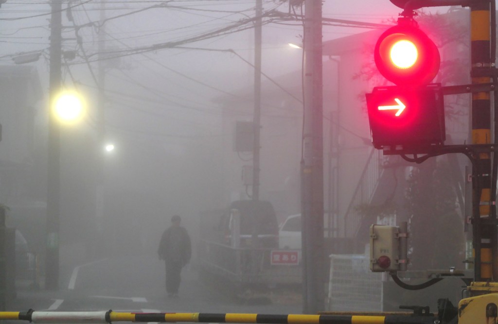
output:
[{"label": "thickest concrete utility pole, nearest, right of the red Japanese sign", "polygon": [[322,1],[305,0],[301,161],[303,313],[324,310]]}]

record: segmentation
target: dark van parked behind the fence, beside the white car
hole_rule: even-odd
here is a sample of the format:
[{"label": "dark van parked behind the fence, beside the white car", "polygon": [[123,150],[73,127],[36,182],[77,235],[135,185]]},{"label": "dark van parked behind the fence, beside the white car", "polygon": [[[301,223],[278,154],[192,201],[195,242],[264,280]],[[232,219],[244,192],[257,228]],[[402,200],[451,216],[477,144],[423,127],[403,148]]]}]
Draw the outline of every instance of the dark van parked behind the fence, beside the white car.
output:
[{"label": "dark van parked behind the fence, beside the white car", "polygon": [[221,218],[220,230],[224,243],[232,247],[278,248],[277,217],[267,201],[232,202]]}]

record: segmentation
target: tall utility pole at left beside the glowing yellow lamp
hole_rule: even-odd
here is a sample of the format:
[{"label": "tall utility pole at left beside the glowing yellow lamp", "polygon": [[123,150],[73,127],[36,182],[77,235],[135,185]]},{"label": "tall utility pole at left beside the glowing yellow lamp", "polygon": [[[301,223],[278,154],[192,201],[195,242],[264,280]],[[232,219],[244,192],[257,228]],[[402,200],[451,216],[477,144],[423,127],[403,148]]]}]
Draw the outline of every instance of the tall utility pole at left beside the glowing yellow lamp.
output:
[{"label": "tall utility pole at left beside the glowing yellow lamp", "polygon": [[47,242],[45,288],[59,289],[60,126],[53,107],[61,90],[62,0],[52,0],[48,110]]}]

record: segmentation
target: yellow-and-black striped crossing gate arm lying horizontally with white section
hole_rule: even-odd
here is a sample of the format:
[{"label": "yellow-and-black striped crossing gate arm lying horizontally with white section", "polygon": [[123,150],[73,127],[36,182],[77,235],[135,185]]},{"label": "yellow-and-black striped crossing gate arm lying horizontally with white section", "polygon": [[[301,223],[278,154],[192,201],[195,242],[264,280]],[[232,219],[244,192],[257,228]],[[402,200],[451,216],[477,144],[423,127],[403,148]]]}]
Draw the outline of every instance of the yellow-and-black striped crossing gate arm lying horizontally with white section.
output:
[{"label": "yellow-and-black striped crossing gate arm lying horizontally with white section", "polygon": [[191,322],[191,323],[266,323],[266,324],[433,324],[434,316],[406,315],[269,315],[211,313],[123,313],[102,312],[0,312],[0,320],[32,323],[112,323],[112,322]]}]

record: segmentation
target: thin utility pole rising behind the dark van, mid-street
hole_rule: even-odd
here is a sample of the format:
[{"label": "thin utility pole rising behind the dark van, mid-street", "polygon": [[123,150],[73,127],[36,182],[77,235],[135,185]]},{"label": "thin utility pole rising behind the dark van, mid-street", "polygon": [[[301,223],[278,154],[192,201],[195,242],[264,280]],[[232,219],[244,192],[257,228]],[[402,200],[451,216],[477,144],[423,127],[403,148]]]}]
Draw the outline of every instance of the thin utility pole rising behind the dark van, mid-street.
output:
[{"label": "thin utility pole rising behind the dark van, mid-street", "polygon": [[254,115],[252,127],[254,144],[252,148],[252,200],[259,200],[259,145],[261,129],[261,15],[263,1],[256,0],[256,20],[254,21]]}]

